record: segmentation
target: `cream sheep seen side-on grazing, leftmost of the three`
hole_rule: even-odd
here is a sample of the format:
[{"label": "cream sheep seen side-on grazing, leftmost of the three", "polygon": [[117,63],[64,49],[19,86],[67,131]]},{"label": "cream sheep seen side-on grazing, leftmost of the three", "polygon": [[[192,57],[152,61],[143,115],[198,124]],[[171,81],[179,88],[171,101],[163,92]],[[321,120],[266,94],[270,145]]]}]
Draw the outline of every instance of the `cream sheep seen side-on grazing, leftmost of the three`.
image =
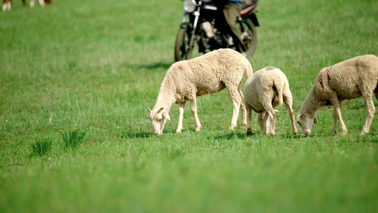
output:
[{"label": "cream sheep seen side-on grazing, leftmost of the three", "polygon": [[191,60],[175,62],[162,81],[155,106],[148,109],[148,119],[152,122],[154,134],[162,134],[165,123],[169,121],[169,109],[172,104],[179,104],[179,125],[177,133],[182,131],[182,119],[187,100],[196,121],[195,131],[200,131],[201,123],[197,115],[196,97],[214,94],[228,89],[233,102],[233,117],[230,129],[233,130],[238,119],[239,107],[242,109],[242,127],[247,126],[246,111],[243,104],[241,82],[252,75],[252,66],[247,58],[231,49],[219,49]]}]

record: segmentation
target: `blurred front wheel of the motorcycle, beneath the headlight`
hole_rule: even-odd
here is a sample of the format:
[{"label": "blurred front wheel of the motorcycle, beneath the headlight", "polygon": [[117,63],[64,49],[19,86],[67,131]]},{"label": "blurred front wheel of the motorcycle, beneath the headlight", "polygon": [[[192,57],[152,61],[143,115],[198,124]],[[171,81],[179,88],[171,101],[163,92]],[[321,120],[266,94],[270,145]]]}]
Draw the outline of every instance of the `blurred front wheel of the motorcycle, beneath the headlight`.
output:
[{"label": "blurred front wheel of the motorcycle, beneath the headlight", "polygon": [[186,28],[180,28],[176,36],[176,43],[174,43],[174,60],[188,60],[191,59],[193,48],[189,48],[190,33]]}]

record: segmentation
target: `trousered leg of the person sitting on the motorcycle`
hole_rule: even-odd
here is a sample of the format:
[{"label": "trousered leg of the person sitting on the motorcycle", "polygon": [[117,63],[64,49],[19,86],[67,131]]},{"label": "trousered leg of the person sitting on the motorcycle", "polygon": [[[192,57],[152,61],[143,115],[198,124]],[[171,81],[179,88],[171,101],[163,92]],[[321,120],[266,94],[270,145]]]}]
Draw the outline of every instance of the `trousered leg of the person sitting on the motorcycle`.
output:
[{"label": "trousered leg of the person sitting on the motorcycle", "polygon": [[241,40],[240,35],[242,32],[238,28],[237,20],[238,17],[240,17],[240,11],[241,11],[241,4],[230,2],[228,1],[224,7],[223,7],[223,14],[226,18],[226,22],[228,26],[230,26],[231,35],[233,36],[233,42],[236,45],[236,50],[238,50],[239,53],[245,52],[247,49],[245,48],[245,45],[243,43],[243,40]]}]

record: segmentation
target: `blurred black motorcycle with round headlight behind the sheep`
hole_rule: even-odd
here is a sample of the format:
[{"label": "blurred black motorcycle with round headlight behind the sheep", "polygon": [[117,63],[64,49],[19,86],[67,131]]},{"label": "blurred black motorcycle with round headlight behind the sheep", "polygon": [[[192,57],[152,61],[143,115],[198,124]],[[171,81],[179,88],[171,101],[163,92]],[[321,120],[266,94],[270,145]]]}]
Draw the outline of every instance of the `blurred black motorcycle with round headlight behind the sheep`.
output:
[{"label": "blurred black motorcycle with round headlight behind the sheep", "polygon": [[[252,56],[257,46],[255,26],[259,26],[255,13],[257,0],[242,0],[240,4],[242,5],[238,18],[238,27],[242,32],[240,37],[247,48],[245,55]],[[236,49],[222,8],[218,8],[209,0],[184,0],[183,9],[182,23],[174,44],[175,61],[191,59],[195,42],[199,46],[199,53],[207,53],[219,48]]]}]

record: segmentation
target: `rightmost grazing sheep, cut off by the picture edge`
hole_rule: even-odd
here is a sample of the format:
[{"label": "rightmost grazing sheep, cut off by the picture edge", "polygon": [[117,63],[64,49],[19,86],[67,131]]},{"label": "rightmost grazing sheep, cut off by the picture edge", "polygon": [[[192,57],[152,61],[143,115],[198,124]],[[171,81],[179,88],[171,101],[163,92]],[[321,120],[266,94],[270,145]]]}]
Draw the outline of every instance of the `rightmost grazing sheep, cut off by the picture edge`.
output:
[{"label": "rightmost grazing sheep, cut off by the picture edge", "polygon": [[364,97],[367,117],[361,135],[369,133],[374,117],[375,107],[373,92],[378,99],[378,58],[375,55],[361,55],[323,68],[296,117],[306,136],[311,134],[316,111],[323,106],[333,105],[333,134],[338,133],[340,121],[342,135],[348,130],[341,117],[340,107],[345,99]]}]

